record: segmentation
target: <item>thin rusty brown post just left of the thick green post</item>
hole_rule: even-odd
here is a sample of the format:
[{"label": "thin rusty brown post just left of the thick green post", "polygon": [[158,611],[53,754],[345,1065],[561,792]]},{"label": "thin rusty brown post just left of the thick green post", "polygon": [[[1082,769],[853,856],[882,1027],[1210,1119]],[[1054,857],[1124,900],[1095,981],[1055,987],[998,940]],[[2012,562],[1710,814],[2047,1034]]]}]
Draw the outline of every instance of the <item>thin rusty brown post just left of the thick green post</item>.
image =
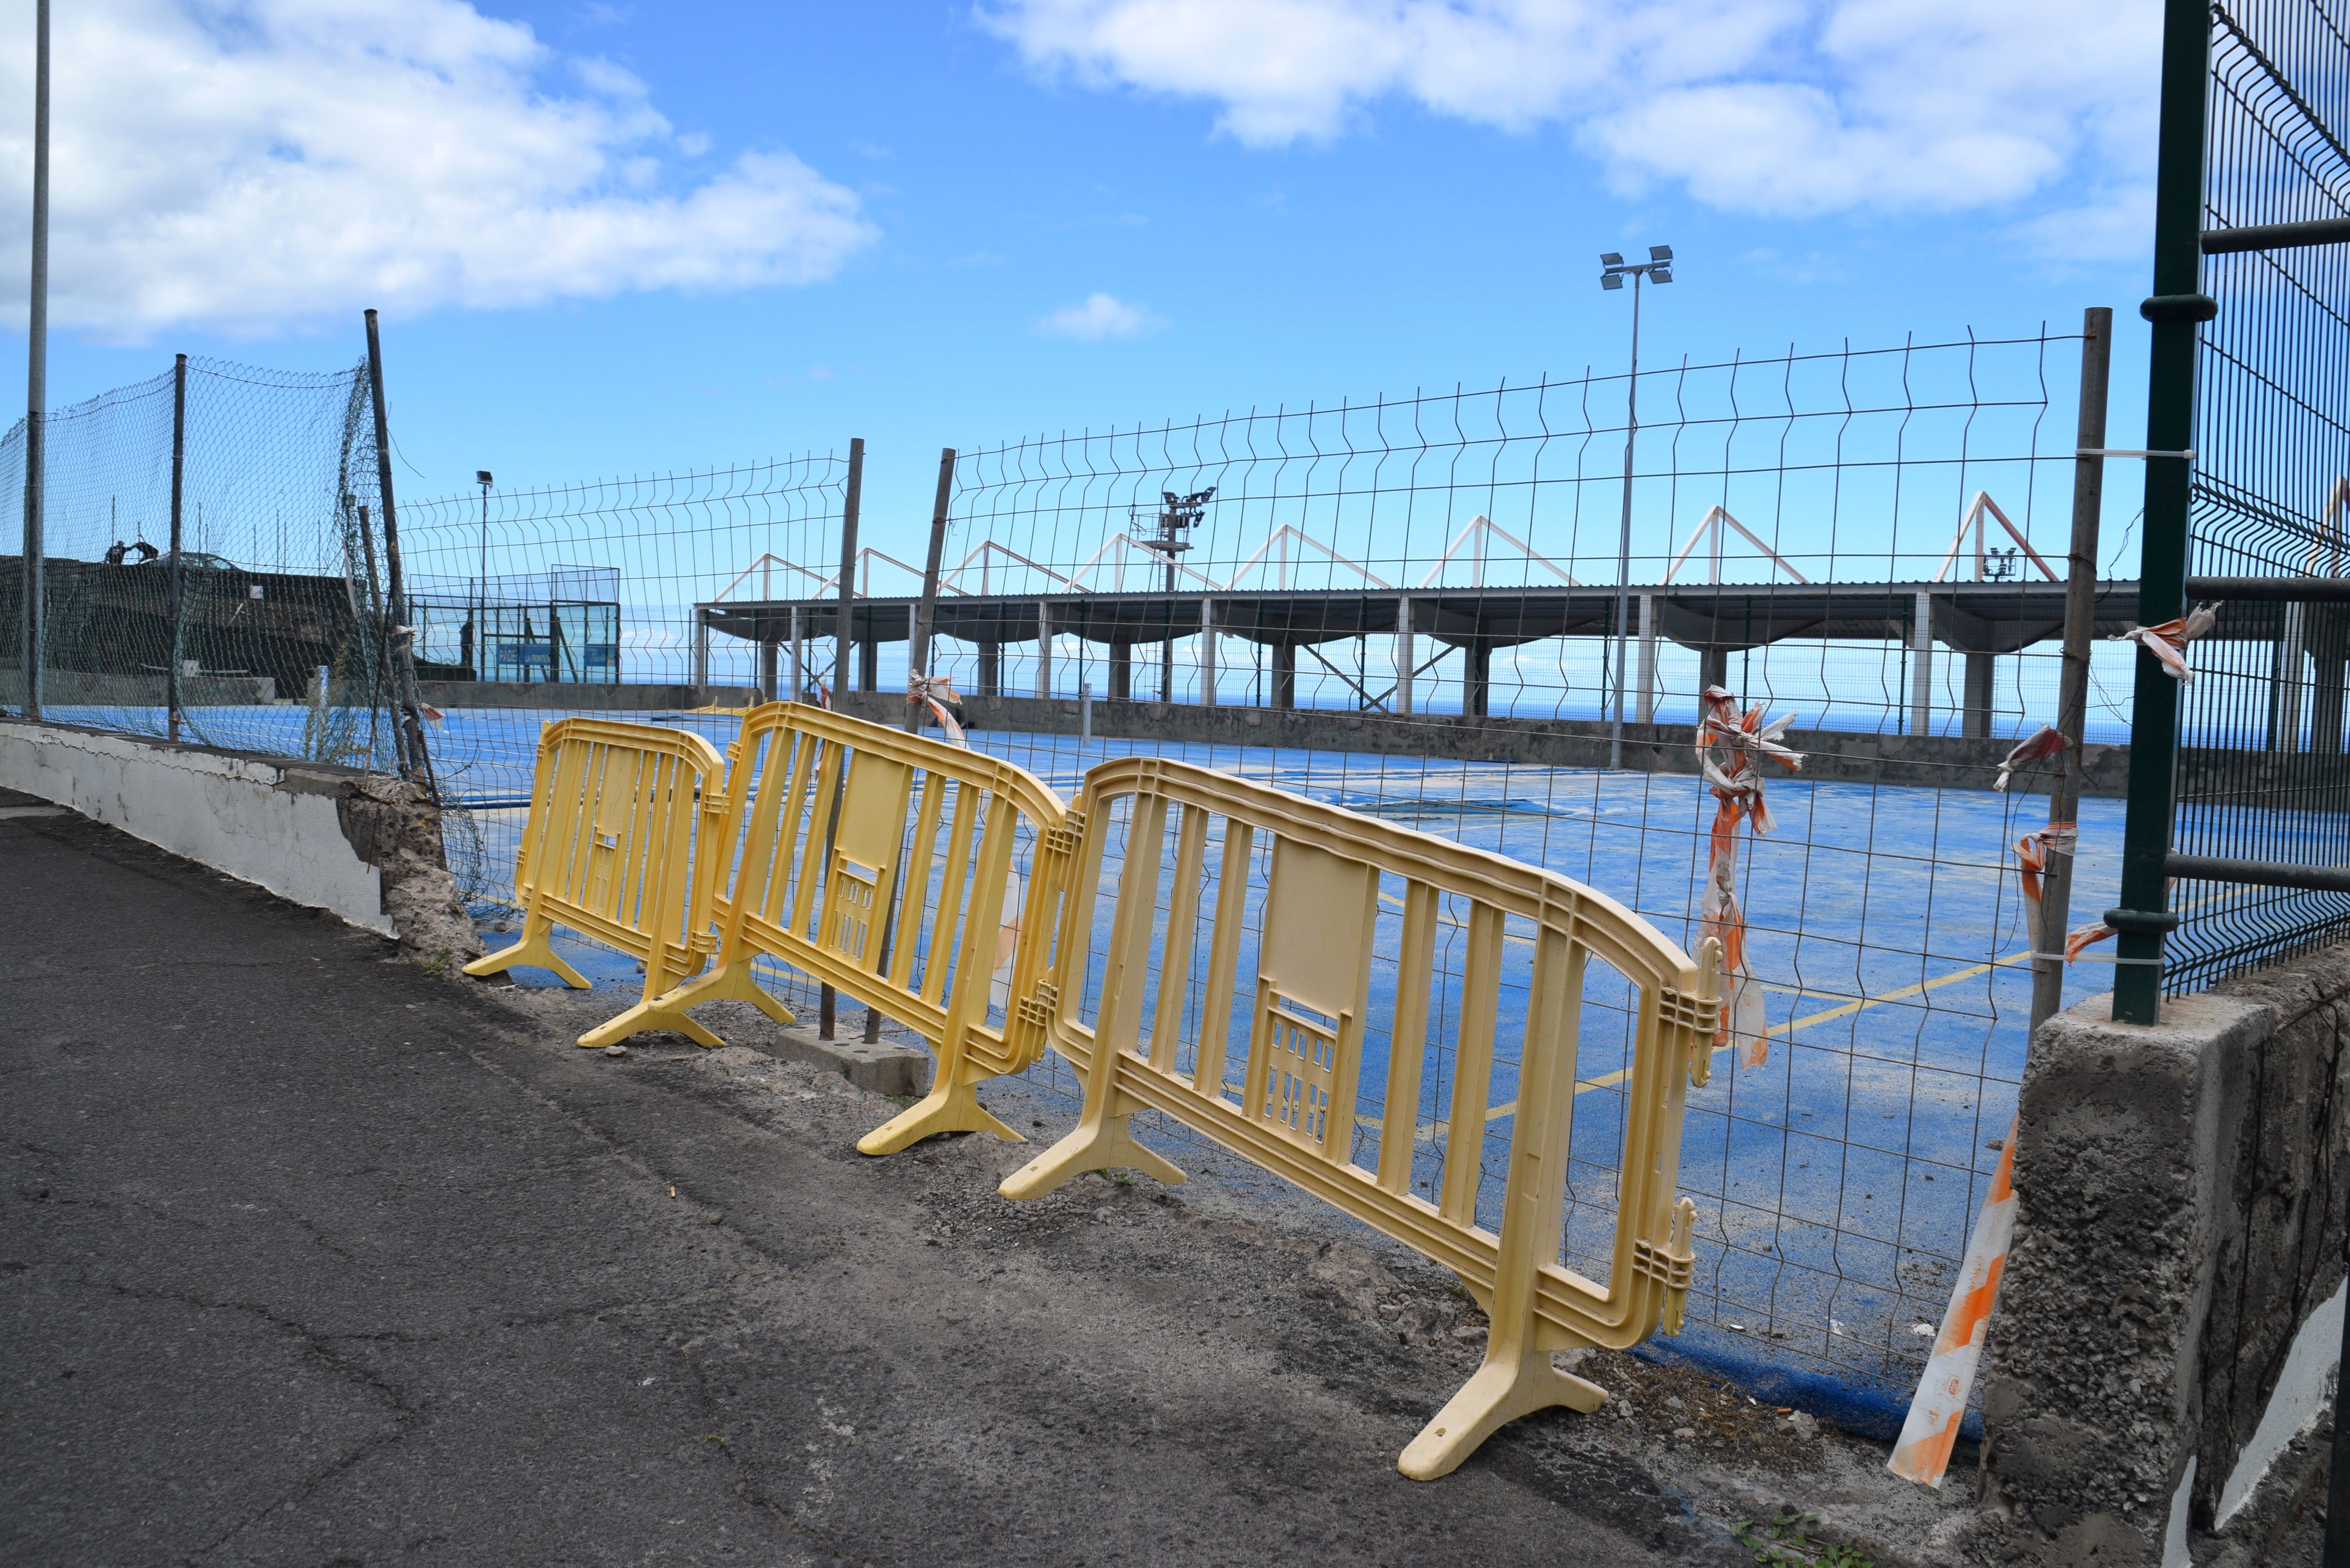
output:
[{"label": "thin rusty brown post just left of the thick green post", "polygon": [[[2113,310],[2089,306],[2080,322],[2080,440],[2073,449],[2073,545],[2063,590],[2063,663],[2056,677],[2056,733],[2063,764],[2049,785],[2049,827],[2080,818],[2082,736],[2089,729],[2089,642],[2096,637],[2096,524],[2106,508],[2106,407],[2113,383]],[[2033,1020],[2037,1030],[2063,1009],[2063,938],[2073,924],[2073,849],[2049,844],[2040,879],[2040,931],[2033,940]],[[2026,1037],[2028,1039],[2028,1037]],[[2028,1046],[2026,1046],[2028,1048]]]}]

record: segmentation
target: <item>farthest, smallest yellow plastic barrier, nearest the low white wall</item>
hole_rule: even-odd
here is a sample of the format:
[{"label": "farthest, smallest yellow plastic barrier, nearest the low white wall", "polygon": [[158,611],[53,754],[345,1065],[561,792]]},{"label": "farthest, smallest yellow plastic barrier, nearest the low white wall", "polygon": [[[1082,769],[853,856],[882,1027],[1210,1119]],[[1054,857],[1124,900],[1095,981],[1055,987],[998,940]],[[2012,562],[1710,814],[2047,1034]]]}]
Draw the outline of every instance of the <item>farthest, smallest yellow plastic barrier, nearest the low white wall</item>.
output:
[{"label": "farthest, smallest yellow plastic barrier, nearest the low white wall", "polygon": [[[660,1001],[710,954],[707,884],[724,860],[724,839],[710,837],[717,783],[719,755],[696,733],[611,719],[548,724],[515,856],[522,940],[475,959],[465,973],[533,964],[585,990],[588,980],[548,943],[564,924],[644,959],[644,999],[580,1034],[583,1046],[609,1046],[639,1030],[719,1044]],[[766,1006],[790,1020],[773,1001]]]}]

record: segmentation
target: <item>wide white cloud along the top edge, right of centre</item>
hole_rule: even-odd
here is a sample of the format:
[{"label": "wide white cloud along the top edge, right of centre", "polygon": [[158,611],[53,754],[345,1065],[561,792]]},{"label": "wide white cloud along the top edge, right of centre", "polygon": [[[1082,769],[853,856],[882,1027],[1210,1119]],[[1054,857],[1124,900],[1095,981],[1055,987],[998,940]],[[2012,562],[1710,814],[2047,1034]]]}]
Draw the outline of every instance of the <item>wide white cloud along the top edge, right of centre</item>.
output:
[{"label": "wide white cloud along the top edge, right of centre", "polygon": [[2153,172],[2155,0],[996,0],[982,21],[1046,75],[1208,99],[1246,143],[1401,99],[1565,125],[1624,190],[1734,212],[1955,212]]}]

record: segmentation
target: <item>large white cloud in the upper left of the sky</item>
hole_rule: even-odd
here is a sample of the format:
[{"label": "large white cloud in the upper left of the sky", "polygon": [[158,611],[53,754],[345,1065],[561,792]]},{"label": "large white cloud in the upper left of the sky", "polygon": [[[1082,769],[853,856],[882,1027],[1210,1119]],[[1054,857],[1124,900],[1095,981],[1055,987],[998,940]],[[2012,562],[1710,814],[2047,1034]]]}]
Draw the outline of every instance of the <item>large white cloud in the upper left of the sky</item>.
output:
[{"label": "large white cloud in the upper left of the sky", "polygon": [[[49,313],[99,336],[799,284],[877,233],[790,153],[672,176],[703,148],[634,75],[463,0],[92,0],[54,28]],[[0,101],[31,103],[28,38]],[[5,132],[24,190],[28,115]],[[26,226],[0,207],[12,296]]]}]

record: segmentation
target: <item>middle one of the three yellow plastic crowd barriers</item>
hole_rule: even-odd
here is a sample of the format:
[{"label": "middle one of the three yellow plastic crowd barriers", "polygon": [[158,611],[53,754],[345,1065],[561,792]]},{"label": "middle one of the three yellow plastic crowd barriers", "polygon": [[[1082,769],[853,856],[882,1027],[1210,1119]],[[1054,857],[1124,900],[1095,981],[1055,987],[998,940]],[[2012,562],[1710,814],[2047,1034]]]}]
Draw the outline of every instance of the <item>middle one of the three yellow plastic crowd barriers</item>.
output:
[{"label": "middle one of the three yellow plastic crowd barriers", "polygon": [[[1060,797],[1010,762],[804,703],[754,708],[728,757],[719,835],[738,853],[731,886],[719,879],[707,896],[717,966],[660,1006],[759,1001],[752,959],[773,954],[938,1053],[928,1098],[867,1133],[862,1152],[982,1128],[1018,1140],[973,1091],[1043,1051],[1039,997],[1053,994],[1048,947],[1074,846]],[[1015,898],[1022,823],[1034,865]]]}]

